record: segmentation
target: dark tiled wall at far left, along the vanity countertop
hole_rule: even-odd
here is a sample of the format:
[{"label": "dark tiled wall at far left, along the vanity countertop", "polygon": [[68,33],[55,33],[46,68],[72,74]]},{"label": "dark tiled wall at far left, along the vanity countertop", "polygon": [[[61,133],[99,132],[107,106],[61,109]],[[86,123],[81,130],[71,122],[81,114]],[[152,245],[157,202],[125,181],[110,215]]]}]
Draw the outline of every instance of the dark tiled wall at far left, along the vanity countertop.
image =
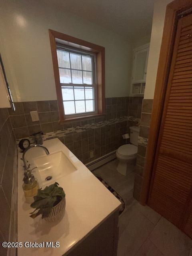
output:
[{"label": "dark tiled wall at far left, along the vanity countertop", "polygon": [[[9,109],[0,108],[0,244],[8,242],[9,238],[16,237],[14,219],[17,214],[17,202],[12,204],[12,186],[16,186],[17,174],[17,148],[16,138],[10,122]],[[13,182],[14,180],[14,182]],[[14,223],[12,223],[12,221]],[[3,221],[2,221],[3,220]],[[1,255],[7,255],[7,249],[0,249]]]}]

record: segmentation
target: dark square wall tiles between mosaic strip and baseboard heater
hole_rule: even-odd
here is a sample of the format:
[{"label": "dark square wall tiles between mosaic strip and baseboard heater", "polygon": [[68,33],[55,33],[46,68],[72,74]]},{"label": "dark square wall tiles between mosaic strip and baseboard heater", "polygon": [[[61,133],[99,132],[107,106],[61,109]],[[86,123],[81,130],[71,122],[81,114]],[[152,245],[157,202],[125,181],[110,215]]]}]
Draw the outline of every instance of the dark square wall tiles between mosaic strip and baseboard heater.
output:
[{"label": "dark square wall tiles between mosaic strip and baseboard heater", "polygon": [[[59,139],[86,164],[125,144],[122,134],[129,132],[129,126],[135,124],[135,120],[128,122],[126,118],[119,118],[92,124],[88,129],[85,127],[83,131],[62,136]],[[94,152],[92,158],[90,158],[91,151]]]}]

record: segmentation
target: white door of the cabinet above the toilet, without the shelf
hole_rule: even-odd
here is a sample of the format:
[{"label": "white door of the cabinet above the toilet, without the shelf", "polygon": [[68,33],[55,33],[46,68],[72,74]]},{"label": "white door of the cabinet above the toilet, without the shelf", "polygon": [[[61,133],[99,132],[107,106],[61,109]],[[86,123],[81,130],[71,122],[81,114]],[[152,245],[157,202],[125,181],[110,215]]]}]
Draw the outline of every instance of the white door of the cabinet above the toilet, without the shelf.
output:
[{"label": "white door of the cabinet above the toilet, without the shelf", "polygon": [[145,82],[148,63],[148,50],[145,48],[135,52],[133,65],[133,82]]}]

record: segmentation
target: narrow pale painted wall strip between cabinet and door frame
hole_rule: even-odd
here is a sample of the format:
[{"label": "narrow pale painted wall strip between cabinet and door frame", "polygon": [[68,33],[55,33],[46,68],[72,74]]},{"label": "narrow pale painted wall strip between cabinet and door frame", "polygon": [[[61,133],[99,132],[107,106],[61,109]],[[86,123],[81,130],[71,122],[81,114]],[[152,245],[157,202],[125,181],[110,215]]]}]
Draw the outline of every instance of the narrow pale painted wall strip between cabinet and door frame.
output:
[{"label": "narrow pale painted wall strip between cabinet and door frame", "polygon": [[165,12],[166,12],[167,4],[169,4],[170,2],[172,2],[172,0],[156,0],[154,4],[148,68],[147,68],[147,76],[146,76],[146,86],[145,86],[145,93],[144,93],[145,99],[154,98],[157,68],[158,68],[160,47],[161,47],[162,34],[163,34],[163,28],[164,28]]}]

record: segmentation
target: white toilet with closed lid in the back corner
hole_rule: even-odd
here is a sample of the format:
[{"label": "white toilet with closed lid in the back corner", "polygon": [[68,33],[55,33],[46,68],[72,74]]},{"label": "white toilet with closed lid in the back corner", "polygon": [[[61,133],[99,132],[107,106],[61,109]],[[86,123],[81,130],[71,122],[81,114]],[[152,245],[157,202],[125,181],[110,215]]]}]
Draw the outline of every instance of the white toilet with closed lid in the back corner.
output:
[{"label": "white toilet with closed lid in the back corner", "polygon": [[133,171],[133,166],[136,163],[137,146],[138,146],[139,127],[130,127],[130,144],[122,145],[116,151],[116,156],[119,160],[117,171],[126,176]]}]

